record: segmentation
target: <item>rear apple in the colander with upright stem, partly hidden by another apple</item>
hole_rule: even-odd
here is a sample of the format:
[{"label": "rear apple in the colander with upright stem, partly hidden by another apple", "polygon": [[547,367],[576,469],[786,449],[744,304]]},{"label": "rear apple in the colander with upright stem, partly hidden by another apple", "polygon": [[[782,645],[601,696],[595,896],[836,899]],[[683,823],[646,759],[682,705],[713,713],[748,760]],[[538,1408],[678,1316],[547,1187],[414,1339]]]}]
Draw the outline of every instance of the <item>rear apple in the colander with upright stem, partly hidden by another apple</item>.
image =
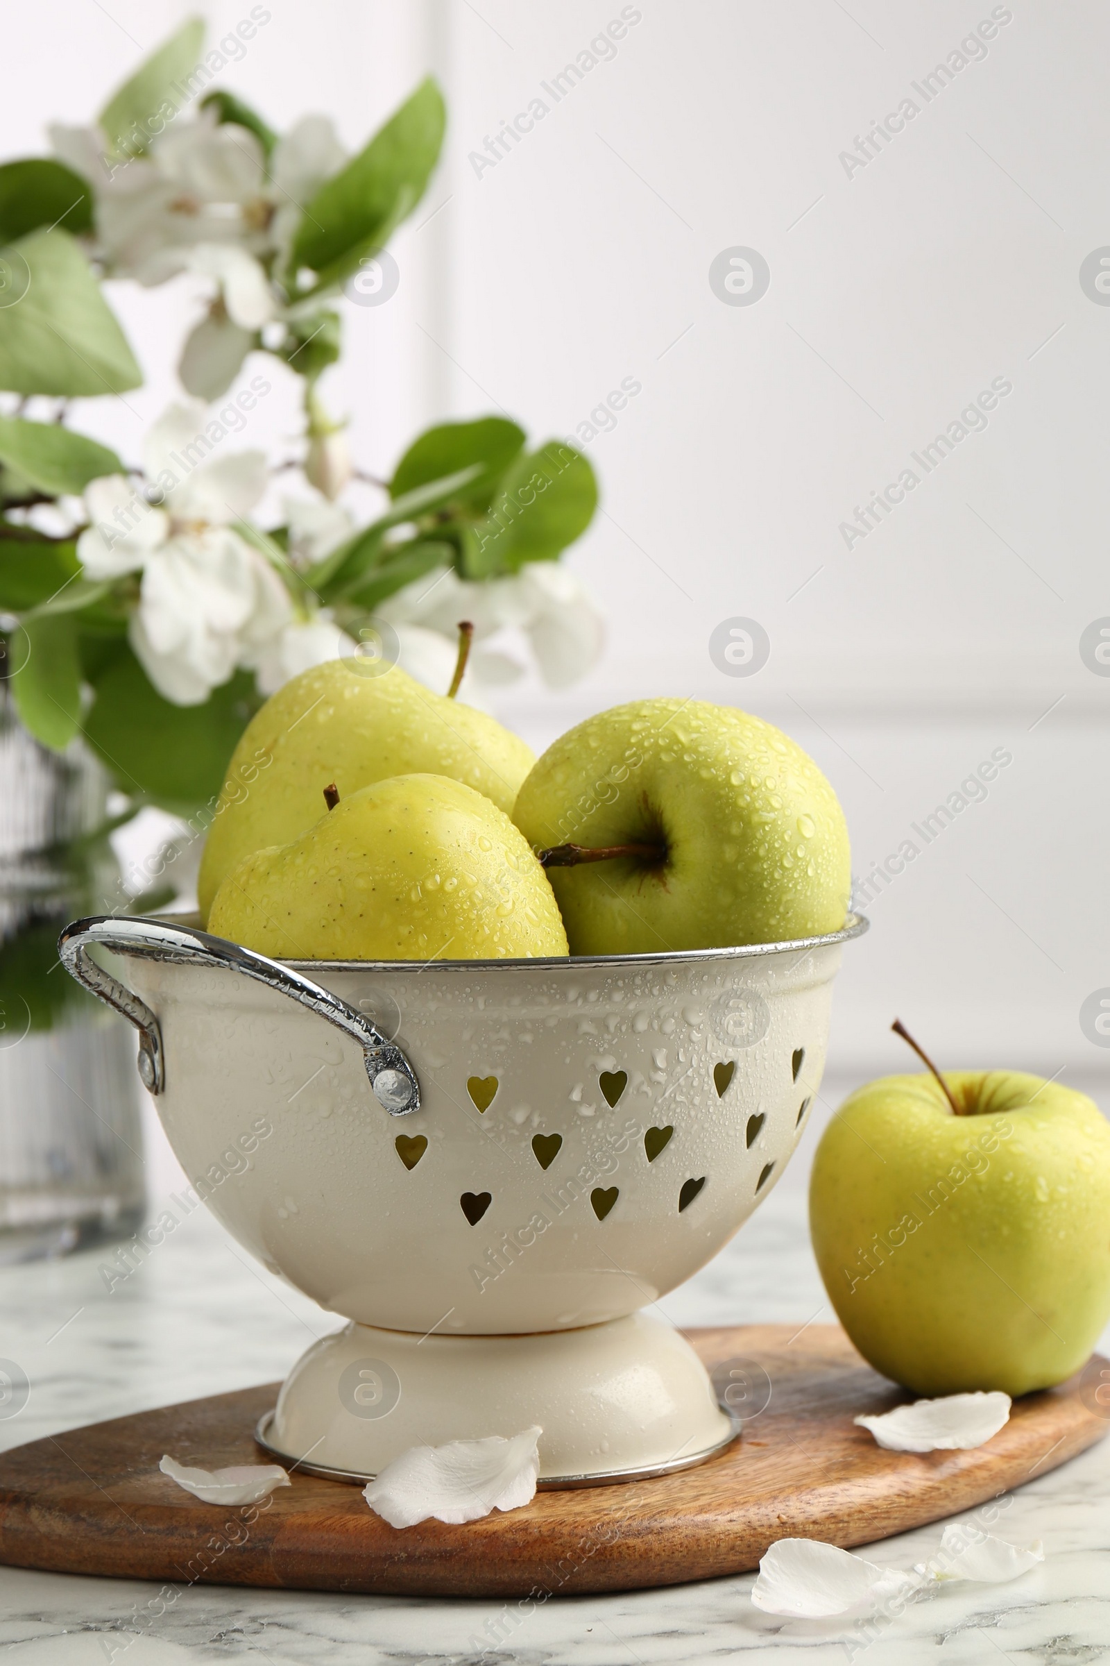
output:
[{"label": "rear apple in the colander with upright stem, partly hidden by another apple", "polygon": [[208,833],[198,881],[205,920],[245,856],[308,833],[330,781],[348,798],[394,775],[449,775],[511,813],[534,758],[494,718],[453,698],[471,626],[459,630],[449,695],[433,693],[396,665],[358,658],[328,660],[271,695],[235,748]]}]

